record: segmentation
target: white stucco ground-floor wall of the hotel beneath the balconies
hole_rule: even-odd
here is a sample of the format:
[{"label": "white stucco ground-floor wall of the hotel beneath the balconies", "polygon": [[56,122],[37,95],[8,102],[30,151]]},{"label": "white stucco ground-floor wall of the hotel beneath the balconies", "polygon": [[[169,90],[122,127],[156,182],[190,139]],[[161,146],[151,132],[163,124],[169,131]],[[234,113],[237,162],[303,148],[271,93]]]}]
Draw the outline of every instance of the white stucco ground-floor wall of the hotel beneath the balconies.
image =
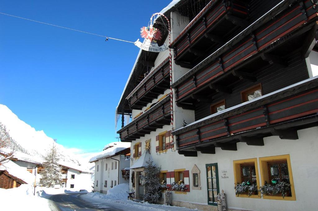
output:
[{"label": "white stucco ground-floor wall of the hotel beneath the balconies", "polygon": [[[185,168],[190,171],[190,192],[187,194],[172,194],[172,200],[189,201],[207,205],[206,169],[205,164],[218,163],[219,188],[226,193],[227,206],[245,210],[315,210],[315,194],[312,193],[318,188],[318,128],[309,128],[298,131],[299,140],[281,140],[278,136],[264,138],[265,146],[248,146],[239,142],[237,151],[221,150],[216,148],[216,154],[201,154],[197,157],[184,157],[168,149],[166,154],[156,154],[156,135],[162,131],[170,130],[170,126],[164,126],[145,135],[141,139],[132,142],[142,142],[142,152],[145,147],[145,140],[151,138],[151,156],[161,170],[174,171],[174,169]],[[296,201],[257,199],[236,197],[234,190],[233,161],[249,158],[259,158],[275,155],[290,155],[291,168],[294,180]],[[132,161],[131,165],[135,162]],[[259,161],[258,161],[259,162]],[[201,190],[191,188],[191,169],[194,164],[201,171]],[[258,163],[259,166],[259,163]],[[226,179],[222,179],[222,171],[226,171]],[[260,169],[259,179],[260,179]],[[260,181],[261,183],[261,181]],[[132,184],[130,183],[130,188]],[[309,191],[311,190],[311,191]]]}]

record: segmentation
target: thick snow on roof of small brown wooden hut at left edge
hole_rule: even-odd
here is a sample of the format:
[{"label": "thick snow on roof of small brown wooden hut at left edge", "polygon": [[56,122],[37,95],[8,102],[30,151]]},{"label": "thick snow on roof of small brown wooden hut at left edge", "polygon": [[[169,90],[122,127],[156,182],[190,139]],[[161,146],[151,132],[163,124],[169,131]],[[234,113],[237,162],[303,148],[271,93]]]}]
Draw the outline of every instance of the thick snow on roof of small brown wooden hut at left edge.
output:
[{"label": "thick snow on roof of small brown wooden hut at left edge", "polygon": [[35,176],[28,172],[26,168],[20,167],[13,161],[0,165],[0,170],[6,170],[10,175],[15,176],[28,184],[32,184],[32,182],[34,182]]}]

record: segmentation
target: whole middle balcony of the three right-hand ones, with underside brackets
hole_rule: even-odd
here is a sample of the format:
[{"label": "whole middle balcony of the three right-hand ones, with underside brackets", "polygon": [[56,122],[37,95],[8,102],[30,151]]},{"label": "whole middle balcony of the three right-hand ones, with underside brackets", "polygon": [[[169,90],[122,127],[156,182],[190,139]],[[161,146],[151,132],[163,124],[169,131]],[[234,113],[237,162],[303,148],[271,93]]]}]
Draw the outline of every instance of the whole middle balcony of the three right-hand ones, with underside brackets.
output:
[{"label": "whole middle balcony of the three right-hand ones, with underside brackets", "polygon": [[[297,50],[304,52],[308,47],[307,42],[299,40],[314,39],[317,11],[310,0],[280,3],[174,82],[176,101],[190,103],[189,99],[207,96],[211,89],[228,92],[226,85],[232,82],[255,80],[253,71],[257,69],[271,64],[288,65],[284,56]],[[223,81],[216,84],[218,80]],[[206,92],[202,93],[204,89]]]}]

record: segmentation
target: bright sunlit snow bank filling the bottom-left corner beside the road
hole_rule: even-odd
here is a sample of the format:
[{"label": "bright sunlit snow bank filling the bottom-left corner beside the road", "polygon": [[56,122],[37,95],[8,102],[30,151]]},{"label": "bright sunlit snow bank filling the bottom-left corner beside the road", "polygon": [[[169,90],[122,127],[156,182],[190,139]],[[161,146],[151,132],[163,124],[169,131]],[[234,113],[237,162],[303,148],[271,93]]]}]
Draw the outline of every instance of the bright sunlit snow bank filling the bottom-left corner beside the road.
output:
[{"label": "bright sunlit snow bank filling the bottom-left corner beside the road", "polygon": [[28,208],[32,210],[35,207],[40,207],[41,211],[52,210],[49,200],[40,197],[37,193],[33,195],[33,191],[34,188],[29,184],[23,184],[18,188],[0,188],[1,210],[28,210]]}]

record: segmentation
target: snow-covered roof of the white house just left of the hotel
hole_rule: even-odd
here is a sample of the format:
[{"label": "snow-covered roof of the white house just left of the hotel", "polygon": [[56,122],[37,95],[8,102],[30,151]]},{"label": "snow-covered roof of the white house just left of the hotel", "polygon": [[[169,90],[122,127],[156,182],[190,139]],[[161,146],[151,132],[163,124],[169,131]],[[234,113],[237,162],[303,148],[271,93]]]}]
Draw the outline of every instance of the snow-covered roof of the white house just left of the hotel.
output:
[{"label": "snow-covered roof of the white house just left of the hotel", "polygon": [[[110,147],[111,146],[111,147]],[[130,142],[112,142],[107,144],[104,151],[100,152],[98,155],[92,157],[89,162],[95,162],[102,158],[107,158],[114,156],[115,154],[130,148]]]}]

